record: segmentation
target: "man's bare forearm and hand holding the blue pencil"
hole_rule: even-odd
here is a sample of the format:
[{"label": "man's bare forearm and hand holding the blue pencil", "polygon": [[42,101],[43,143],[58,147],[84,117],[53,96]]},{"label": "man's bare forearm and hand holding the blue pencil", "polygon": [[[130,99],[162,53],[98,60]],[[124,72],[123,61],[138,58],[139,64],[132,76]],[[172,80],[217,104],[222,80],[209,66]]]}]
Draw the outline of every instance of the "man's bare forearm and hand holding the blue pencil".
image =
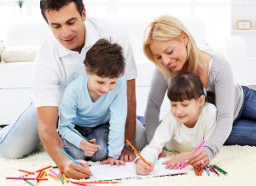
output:
[{"label": "man's bare forearm and hand holding the blue pencil", "polygon": [[63,148],[63,144],[56,130],[58,111],[58,107],[55,106],[38,107],[38,135],[44,145],[44,149],[55,161],[60,171],[64,172],[67,177],[76,179],[89,178],[90,170],[85,161],[79,161],[82,166],[76,165],[60,151]]}]

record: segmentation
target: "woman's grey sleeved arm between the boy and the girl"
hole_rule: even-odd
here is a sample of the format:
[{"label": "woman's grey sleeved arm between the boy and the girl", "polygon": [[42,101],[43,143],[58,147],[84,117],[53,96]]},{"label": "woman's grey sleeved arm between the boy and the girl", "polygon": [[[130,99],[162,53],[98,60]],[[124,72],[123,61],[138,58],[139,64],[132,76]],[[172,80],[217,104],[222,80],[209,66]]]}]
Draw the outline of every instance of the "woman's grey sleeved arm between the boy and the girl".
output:
[{"label": "woman's grey sleeved arm between the boy and the girl", "polygon": [[160,70],[154,70],[154,76],[151,81],[148,93],[148,103],[145,111],[146,136],[150,143],[154,132],[160,123],[160,107],[166,95],[167,82]]}]

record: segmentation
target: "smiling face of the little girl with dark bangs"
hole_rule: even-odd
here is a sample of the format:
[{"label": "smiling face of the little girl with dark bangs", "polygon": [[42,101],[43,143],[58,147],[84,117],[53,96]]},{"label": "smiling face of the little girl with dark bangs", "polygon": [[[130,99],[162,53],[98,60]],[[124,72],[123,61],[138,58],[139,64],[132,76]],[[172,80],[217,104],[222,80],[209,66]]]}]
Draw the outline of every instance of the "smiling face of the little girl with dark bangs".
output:
[{"label": "smiling face of the little girl with dark bangs", "polygon": [[171,102],[171,112],[175,119],[185,126],[192,128],[201,114],[201,106],[205,103],[205,97],[199,99]]}]

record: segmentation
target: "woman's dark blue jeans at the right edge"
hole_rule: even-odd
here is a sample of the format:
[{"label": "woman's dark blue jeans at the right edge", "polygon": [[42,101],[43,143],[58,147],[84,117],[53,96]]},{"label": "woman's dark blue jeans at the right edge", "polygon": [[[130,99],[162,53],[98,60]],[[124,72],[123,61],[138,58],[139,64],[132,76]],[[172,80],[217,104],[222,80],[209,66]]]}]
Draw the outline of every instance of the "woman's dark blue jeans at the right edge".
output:
[{"label": "woman's dark blue jeans at the right edge", "polygon": [[226,145],[256,145],[256,91],[242,87],[244,98]]}]

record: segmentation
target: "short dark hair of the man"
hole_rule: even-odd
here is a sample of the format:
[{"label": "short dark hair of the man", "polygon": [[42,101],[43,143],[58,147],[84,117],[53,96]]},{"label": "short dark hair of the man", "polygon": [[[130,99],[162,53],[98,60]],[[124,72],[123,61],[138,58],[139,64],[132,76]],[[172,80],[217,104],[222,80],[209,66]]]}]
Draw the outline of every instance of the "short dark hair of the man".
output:
[{"label": "short dark hair of the man", "polygon": [[44,17],[44,20],[48,22],[45,16],[46,11],[50,11],[50,10],[58,11],[60,8],[68,5],[69,3],[75,3],[79,11],[79,14],[82,15],[82,12],[84,9],[83,0],[40,0],[40,9],[41,9],[41,14]]}]

